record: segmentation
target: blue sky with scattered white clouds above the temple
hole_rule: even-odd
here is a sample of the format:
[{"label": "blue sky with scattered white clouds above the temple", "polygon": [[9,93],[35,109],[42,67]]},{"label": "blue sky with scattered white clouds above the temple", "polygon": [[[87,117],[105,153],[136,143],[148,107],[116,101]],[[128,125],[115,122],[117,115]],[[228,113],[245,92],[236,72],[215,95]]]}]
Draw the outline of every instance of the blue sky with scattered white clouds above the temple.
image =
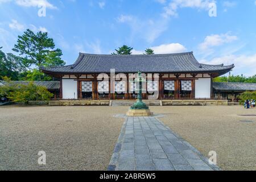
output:
[{"label": "blue sky with scattered white clouds above the temple", "polygon": [[[209,16],[209,3],[217,16]],[[46,16],[38,15],[41,5]],[[109,54],[127,44],[134,54],[193,51],[201,63],[256,74],[255,0],[0,0],[3,51],[12,52],[26,28],[47,31],[67,64],[79,52]]]}]

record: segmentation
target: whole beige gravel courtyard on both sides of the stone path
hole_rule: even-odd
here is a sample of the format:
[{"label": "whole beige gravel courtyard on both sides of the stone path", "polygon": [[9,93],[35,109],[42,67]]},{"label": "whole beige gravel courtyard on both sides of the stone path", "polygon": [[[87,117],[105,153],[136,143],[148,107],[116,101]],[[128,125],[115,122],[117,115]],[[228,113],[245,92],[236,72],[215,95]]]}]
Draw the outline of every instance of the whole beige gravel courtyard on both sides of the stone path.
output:
[{"label": "whole beige gravel courtyard on both sides of the stone path", "polygon": [[[105,170],[128,107],[2,106],[0,170]],[[151,111],[224,170],[256,170],[256,109],[241,106],[151,106]],[[46,166],[38,166],[45,151]]]}]

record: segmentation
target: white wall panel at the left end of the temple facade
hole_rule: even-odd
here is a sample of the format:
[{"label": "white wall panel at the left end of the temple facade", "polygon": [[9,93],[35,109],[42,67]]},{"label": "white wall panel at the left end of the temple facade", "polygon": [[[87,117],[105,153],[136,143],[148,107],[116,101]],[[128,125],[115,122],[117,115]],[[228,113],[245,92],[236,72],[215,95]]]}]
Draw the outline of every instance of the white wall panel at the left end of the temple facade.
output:
[{"label": "white wall panel at the left end of the temple facade", "polygon": [[62,80],[63,99],[77,99],[77,81],[72,79]]}]

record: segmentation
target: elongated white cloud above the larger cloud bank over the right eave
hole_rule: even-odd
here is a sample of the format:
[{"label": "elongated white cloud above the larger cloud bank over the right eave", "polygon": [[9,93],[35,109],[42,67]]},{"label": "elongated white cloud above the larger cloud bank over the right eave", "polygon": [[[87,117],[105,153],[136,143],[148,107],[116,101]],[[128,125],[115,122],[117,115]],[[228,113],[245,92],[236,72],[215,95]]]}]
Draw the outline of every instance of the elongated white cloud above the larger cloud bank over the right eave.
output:
[{"label": "elongated white cloud above the larger cloud bank over the right eave", "polygon": [[237,36],[230,35],[229,32],[226,34],[220,34],[220,35],[218,34],[208,35],[204,39],[204,42],[199,45],[199,49],[201,51],[208,51],[209,48],[221,46],[222,44],[225,44],[225,43],[231,43],[237,39],[238,39]]}]

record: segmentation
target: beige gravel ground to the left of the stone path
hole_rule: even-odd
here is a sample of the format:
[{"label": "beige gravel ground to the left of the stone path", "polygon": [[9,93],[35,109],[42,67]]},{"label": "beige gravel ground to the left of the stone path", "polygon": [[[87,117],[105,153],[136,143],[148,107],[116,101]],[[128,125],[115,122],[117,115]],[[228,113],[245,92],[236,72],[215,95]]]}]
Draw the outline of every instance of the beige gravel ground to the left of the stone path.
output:
[{"label": "beige gravel ground to the left of the stone path", "polygon": [[113,117],[118,110],[0,107],[0,170],[106,170],[124,121]]}]

